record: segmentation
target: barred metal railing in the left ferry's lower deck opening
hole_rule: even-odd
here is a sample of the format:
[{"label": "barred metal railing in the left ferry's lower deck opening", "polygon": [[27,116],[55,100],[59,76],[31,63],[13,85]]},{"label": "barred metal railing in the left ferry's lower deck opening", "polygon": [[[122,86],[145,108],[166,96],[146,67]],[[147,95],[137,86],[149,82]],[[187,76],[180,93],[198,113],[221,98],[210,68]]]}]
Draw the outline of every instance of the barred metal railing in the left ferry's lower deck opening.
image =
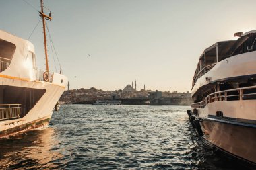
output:
[{"label": "barred metal railing in the left ferry's lower deck opening", "polygon": [[0,120],[11,120],[20,118],[21,104],[2,104],[0,105]]}]

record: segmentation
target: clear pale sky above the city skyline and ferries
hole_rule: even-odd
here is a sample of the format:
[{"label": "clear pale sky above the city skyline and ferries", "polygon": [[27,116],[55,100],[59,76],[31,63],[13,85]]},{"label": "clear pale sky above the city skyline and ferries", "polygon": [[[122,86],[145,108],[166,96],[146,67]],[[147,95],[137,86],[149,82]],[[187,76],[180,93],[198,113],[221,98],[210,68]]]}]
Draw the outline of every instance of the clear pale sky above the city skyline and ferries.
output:
[{"label": "clear pale sky above the city skyline and ferries", "polygon": [[[44,6],[70,89],[116,90],[136,80],[137,89],[191,91],[205,48],[256,29],[255,0],[44,0]],[[39,10],[39,0],[1,0],[0,29],[27,40]],[[29,40],[44,69],[42,38],[39,22]],[[50,70],[59,72],[48,47]]]}]

